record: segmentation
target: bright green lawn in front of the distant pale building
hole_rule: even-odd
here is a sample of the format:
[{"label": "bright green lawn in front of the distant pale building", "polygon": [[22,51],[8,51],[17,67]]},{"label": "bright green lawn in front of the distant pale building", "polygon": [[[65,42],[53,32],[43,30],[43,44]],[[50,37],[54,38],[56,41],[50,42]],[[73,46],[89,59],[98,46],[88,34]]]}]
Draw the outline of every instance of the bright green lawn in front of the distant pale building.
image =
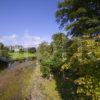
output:
[{"label": "bright green lawn in front of the distant pale building", "polygon": [[10,58],[12,60],[22,60],[22,59],[27,59],[27,58],[33,58],[35,57],[34,53],[28,53],[28,52],[13,52],[13,53],[9,53]]}]

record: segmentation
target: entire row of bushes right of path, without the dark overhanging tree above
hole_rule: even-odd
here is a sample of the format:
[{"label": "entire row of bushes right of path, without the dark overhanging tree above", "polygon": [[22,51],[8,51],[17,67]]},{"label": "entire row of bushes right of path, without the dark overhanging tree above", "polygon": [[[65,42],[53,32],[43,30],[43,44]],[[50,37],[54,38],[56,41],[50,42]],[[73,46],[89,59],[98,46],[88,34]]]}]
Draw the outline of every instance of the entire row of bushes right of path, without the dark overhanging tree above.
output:
[{"label": "entire row of bushes right of path, without the dark overhanging tree above", "polygon": [[54,34],[50,44],[43,42],[38,47],[42,75],[49,77],[52,73],[61,81],[67,80],[67,90],[73,91],[70,94],[76,100],[95,100],[100,95],[99,45],[99,41],[92,39],[68,39],[63,33]]}]

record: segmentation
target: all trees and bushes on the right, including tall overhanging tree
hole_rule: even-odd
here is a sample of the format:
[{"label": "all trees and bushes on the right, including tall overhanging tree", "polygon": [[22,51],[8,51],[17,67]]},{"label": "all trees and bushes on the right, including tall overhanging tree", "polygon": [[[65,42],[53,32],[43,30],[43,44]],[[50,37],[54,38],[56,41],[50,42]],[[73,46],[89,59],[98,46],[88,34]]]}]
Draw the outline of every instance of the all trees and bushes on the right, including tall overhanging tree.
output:
[{"label": "all trees and bushes on the right, including tall overhanging tree", "polygon": [[69,100],[98,100],[100,98],[100,1],[59,2],[56,19],[60,28],[64,28],[67,34],[56,33],[52,36],[51,43],[43,42],[39,45],[38,58],[43,77],[50,78],[52,74],[70,80],[75,87],[74,92],[69,98],[67,97]]}]

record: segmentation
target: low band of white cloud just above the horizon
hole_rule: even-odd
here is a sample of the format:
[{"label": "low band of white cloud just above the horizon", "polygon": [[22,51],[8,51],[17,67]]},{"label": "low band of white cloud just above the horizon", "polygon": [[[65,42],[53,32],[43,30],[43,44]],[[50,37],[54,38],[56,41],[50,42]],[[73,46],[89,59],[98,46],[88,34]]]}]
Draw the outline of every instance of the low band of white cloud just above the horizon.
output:
[{"label": "low band of white cloud just above the horizon", "polygon": [[30,35],[30,34],[23,34],[23,35],[5,35],[0,36],[0,42],[4,43],[5,45],[23,45],[24,47],[37,47],[42,41],[43,38],[38,36]]}]

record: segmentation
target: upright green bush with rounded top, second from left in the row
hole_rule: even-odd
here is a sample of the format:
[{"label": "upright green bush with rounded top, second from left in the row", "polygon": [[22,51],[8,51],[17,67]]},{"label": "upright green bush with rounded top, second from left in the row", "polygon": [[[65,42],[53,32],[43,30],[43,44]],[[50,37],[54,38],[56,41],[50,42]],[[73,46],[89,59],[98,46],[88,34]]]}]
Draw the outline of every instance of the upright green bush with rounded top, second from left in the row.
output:
[{"label": "upright green bush with rounded top, second from left in the row", "polygon": [[54,67],[53,69],[57,71],[61,70],[61,66],[66,58],[66,42],[67,37],[63,33],[56,33],[52,36],[52,65]]}]

